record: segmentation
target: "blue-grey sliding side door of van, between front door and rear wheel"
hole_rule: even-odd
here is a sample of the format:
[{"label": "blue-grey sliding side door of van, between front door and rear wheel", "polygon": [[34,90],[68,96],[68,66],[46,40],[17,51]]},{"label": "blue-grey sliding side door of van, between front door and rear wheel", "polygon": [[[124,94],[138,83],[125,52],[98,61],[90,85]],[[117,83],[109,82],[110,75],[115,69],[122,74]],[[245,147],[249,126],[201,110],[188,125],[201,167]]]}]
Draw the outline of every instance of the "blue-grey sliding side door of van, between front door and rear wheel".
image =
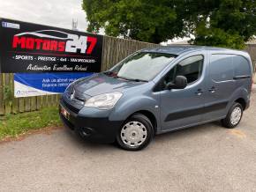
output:
[{"label": "blue-grey sliding side door of van, between front door and rear wheel", "polygon": [[204,121],[223,118],[227,113],[231,95],[236,90],[233,55],[210,54],[205,92]]}]

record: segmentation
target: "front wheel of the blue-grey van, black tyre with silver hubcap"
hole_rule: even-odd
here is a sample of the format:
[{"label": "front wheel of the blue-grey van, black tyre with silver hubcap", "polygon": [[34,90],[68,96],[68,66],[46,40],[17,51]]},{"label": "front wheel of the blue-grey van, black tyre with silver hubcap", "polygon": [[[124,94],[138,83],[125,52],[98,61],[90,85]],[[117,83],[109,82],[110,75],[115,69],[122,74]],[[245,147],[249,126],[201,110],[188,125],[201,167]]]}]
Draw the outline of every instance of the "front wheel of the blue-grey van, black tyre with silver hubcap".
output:
[{"label": "front wheel of the blue-grey van, black tyre with silver hubcap", "polygon": [[144,114],[133,114],[117,134],[117,144],[124,150],[139,151],[147,146],[154,136],[153,126]]}]

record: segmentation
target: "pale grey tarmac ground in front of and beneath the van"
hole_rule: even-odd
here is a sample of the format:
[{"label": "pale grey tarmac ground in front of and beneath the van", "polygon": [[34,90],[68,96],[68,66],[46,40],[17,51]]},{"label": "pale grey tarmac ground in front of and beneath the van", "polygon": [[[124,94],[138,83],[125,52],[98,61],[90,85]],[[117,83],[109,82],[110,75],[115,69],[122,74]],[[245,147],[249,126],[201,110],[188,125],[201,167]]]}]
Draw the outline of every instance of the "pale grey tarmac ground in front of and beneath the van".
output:
[{"label": "pale grey tarmac ground in front of and beneath the van", "polygon": [[208,123],[154,137],[143,151],[68,129],[0,144],[0,191],[256,191],[256,90],[237,129]]}]

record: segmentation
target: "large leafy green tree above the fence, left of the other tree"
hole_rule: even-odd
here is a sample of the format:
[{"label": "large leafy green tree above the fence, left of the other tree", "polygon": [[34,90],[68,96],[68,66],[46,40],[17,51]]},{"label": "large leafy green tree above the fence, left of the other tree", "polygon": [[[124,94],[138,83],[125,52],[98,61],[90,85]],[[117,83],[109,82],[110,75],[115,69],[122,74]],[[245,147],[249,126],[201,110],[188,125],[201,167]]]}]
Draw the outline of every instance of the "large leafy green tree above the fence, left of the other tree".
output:
[{"label": "large leafy green tree above the fence, left of the other tree", "polygon": [[168,0],[84,0],[83,9],[89,32],[97,33],[102,27],[111,36],[154,43],[183,33],[182,18]]}]

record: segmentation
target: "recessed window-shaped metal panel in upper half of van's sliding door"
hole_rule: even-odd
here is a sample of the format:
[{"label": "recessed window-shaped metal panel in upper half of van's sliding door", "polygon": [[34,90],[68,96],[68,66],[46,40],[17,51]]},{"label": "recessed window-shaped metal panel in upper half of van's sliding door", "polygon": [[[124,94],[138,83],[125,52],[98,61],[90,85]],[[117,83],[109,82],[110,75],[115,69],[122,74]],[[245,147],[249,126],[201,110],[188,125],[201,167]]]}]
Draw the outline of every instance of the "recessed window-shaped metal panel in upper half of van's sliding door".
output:
[{"label": "recessed window-shaped metal panel in upper half of van's sliding door", "polygon": [[216,82],[234,78],[233,55],[211,55],[209,63],[210,78]]}]

